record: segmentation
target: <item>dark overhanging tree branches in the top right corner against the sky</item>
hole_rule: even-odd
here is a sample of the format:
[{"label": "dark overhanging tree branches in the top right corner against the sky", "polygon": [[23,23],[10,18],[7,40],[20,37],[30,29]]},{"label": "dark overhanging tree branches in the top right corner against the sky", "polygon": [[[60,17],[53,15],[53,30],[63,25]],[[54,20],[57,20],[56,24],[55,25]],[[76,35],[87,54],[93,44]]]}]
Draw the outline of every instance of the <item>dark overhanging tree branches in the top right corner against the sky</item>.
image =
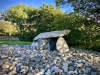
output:
[{"label": "dark overhanging tree branches in the top right corner against the sky", "polygon": [[57,6],[71,4],[74,11],[100,21],[100,0],[56,0]]}]

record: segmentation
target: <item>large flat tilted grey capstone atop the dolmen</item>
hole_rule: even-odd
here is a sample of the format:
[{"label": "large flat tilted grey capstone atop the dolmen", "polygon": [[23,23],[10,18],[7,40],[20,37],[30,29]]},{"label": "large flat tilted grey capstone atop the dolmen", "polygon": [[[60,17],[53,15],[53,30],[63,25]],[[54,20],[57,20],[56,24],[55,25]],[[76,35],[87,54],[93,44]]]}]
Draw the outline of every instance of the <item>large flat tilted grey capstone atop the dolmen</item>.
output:
[{"label": "large flat tilted grey capstone atop the dolmen", "polygon": [[44,33],[40,33],[33,40],[38,40],[38,39],[41,39],[41,38],[62,37],[64,35],[67,35],[69,32],[70,32],[70,30],[60,30],[60,31],[44,32]]}]

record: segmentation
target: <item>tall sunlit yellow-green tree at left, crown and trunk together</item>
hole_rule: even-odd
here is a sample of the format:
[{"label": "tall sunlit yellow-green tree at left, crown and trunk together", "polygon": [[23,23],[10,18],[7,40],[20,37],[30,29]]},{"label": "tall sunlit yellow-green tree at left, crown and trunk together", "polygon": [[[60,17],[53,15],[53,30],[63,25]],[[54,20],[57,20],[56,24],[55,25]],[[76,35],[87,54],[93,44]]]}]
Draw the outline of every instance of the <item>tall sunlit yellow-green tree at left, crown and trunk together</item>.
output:
[{"label": "tall sunlit yellow-green tree at left, crown and trunk together", "polygon": [[19,37],[22,37],[24,26],[27,23],[31,12],[33,11],[33,6],[28,7],[26,4],[18,4],[11,6],[5,13],[5,18],[7,21],[12,23],[17,23],[17,30]]}]

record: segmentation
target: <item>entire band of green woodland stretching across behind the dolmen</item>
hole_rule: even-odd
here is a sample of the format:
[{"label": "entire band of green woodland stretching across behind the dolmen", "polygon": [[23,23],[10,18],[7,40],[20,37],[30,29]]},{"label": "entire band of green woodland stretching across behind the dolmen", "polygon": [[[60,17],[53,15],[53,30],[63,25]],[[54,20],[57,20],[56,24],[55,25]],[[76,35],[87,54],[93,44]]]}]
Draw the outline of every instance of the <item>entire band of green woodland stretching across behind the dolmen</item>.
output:
[{"label": "entire band of green woodland stretching across behind the dolmen", "polygon": [[[98,16],[95,19],[89,17],[89,14],[96,12],[100,14],[96,11],[100,7],[80,13],[74,6],[77,9],[75,12],[64,13],[60,6],[66,3],[62,1],[64,0],[56,0],[56,8],[47,4],[39,8],[25,4],[13,5],[2,13],[5,21],[0,21],[0,35],[17,36],[20,40],[32,41],[42,32],[69,29],[71,32],[64,37],[69,46],[100,51],[100,23],[96,20]],[[73,1],[75,0],[72,0],[72,3]]]}]

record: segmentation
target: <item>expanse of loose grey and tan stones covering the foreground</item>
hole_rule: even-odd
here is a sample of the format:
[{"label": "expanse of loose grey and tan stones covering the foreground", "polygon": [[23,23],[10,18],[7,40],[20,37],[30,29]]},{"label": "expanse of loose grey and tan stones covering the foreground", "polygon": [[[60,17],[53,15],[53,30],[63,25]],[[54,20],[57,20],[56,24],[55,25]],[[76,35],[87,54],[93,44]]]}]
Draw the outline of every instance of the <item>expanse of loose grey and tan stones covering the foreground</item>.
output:
[{"label": "expanse of loose grey and tan stones covering the foreground", "polygon": [[30,45],[0,46],[0,75],[100,75],[100,53],[69,48],[31,50]]}]

